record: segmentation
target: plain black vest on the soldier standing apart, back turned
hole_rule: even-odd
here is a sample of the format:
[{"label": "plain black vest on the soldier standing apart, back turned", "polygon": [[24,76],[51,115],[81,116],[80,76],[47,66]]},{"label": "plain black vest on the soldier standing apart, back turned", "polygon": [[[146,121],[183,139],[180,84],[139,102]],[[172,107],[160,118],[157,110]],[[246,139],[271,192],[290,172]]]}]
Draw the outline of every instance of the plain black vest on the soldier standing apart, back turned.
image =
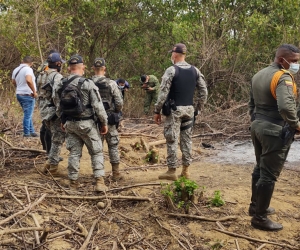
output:
[{"label": "plain black vest on the soldier standing apart, back turned", "polygon": [[170,99],[176,106],[193,105],[194,92],[197,85],[197,71],[194,66],[184,69],[174,65],[175,76],[170,89]]}]

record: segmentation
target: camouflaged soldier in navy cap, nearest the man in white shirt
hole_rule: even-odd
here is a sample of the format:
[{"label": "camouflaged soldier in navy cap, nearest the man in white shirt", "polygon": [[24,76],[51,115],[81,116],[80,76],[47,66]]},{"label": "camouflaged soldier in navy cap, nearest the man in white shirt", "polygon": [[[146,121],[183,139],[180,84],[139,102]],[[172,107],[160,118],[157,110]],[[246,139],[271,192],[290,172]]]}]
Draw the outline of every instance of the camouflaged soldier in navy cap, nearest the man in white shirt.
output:
[{"label": "camouflaged soldier in navy cap, nearest the man in white shirt", "polygon": [[65,141],[65,132],[60,127],[61,120],[56,115],[56,107],[52,95],[53,89],[63,77],[59,72],[62,63],[65,61],[62,60],[59,53],[55,52],[49,55],[47,62],[47,69],[43,73],[40,73],[37,79],[40,85],[38,105],[42,122],[51,132],[51,147],[48,152],[48,160],[45,164],[44,172],[48,173],[49,170],[53,174],[58,169],[59,155]]}]

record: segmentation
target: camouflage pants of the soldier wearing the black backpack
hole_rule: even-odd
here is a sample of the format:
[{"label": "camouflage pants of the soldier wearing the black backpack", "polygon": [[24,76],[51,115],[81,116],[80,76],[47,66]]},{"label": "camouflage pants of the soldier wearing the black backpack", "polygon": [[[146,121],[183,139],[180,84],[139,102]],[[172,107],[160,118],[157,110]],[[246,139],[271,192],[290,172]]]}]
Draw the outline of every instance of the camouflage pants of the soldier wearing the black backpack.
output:
[{"label": "camouflage pants of the soldier wearing the black backpack", "polygon": [[67,121],[65,129],[67,132],[66,147],[70,151],[68,160],[69,179],[78,179],[83,145],[86,145],[91,156],[94,177],[104,176],[102,142],[94,120]]}]

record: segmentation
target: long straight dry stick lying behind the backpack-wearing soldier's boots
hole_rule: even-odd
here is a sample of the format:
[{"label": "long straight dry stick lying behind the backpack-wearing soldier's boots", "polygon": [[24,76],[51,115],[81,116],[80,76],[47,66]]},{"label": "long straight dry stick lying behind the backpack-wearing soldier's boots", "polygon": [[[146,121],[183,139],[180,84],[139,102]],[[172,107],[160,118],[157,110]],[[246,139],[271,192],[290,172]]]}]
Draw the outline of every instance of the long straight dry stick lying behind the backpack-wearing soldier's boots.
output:
[{"label": "long straight dry stick lying behind the backpack-wearing soldier's boots", "polygon": [[72,196],[72,195],[48,195],[48,198],[57,199],[79,199],[79,200],[101,200],[101,199],[112,199],[112,200],[134,200],[134,201],[152,201],[151,198],[147,197],[136,197],[136,196]]}]

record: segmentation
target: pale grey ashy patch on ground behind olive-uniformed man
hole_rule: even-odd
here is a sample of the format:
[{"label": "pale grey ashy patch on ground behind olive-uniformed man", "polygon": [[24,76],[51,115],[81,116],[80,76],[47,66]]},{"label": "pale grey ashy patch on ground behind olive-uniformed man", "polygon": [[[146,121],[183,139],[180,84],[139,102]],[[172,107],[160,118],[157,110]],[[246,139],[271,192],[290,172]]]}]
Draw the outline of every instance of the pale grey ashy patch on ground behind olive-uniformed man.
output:
[{"label": "pale grey ashy patch on ground behind olive-uniformed man", "polygon": [[[208,157],[209,161],[230,165],[255,164],[254,148],[250,140],[218,143],[212,144],[212,146],[214,148],[205,149],[214,151]],[[285,167],[300,171],[300,141],[292,144]]]}]

